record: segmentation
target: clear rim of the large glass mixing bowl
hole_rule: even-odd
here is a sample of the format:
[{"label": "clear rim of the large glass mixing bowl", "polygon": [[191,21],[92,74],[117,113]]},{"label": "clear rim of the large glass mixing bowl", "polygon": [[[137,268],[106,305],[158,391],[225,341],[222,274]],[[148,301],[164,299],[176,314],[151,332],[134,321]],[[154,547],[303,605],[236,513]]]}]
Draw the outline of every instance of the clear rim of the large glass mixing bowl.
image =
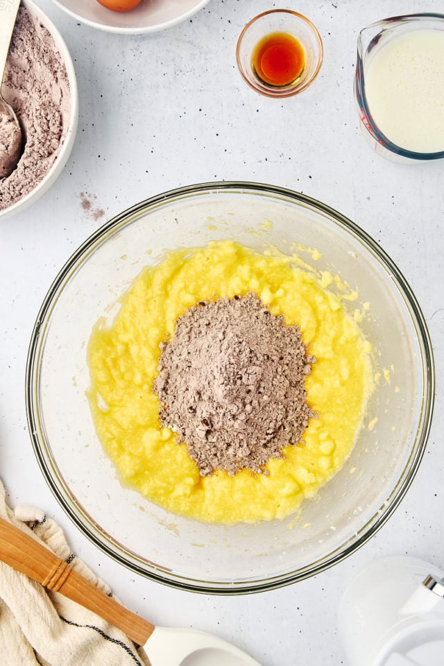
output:
[{"label": "clear rim of the large glass mixing bowl", "polygon": [[[38,402],[35,399],[35,395],[38,395],[38,377],[39,377],[39,368],[40,368],[40,340],[44,334],[45,326],[49,323],[49,318],[51,316],[51,311],[56,302],[58,296],[62,293],[64,289],[65,279],[76,268],[76,264],[83,259],[83,257],[89,254],[89,250],[99,241],[102,237],[105,238],[108,236],[108,233],[113,230],[117,230],[119,227],[128,223],[129,220],[133,219],[137,213],[142,210],[146,210],[148,213],[150,209],[157,207],[162,203],[167,203],[168,201],[173,201],[176,198],[183,196],[192,196],[194,194],[209,194],[209,193],[223,193],[235,191],[239,194],[262,194],[268,196],[278,196],[293,200],[296,203],[303,203],[314,207],[315,210],[327,214],[329,218],[339,225],[339,228],[349,232],[353,237],[364,241],[368,250],[373,252],[377,256],[379,262],[382,266],[392,275],[398,288],[400,289],[402,295],[407,301],[409,306],[409,313],[411,319],[416,325],[416,330],[418,334],[418,345],[420,347],[421,359],[422,359],[422,378],[424,383],[424,389],[422,391],[422,402],[420,409],[420,417],[418,422],[418,428],[416,431],[416,437],[413,444],[413,449],[409,455],[409,459],[404,466],[404,470],[400,474],[397,483],[394,488],[388,493],[388,497],[382,503],[382,506],[375,511],[375,513],[368,518],[365,524],[356,531],[356,533],[348,539],[342,545],[336,547],[332,552],[327,553],[322,558],[318,559],[314,563],[305,565],[304,567],[291,571],[291,572],[278,572],[271,577],[266,579],[246,579],[245,581],[200,581],[198,579],[190,579],[189,577],[178,574],[176,572],[171,572],[171,570],[161,570],[160,567],[152,566],[150,570],[146,565],[142,566],[138,564],[137,554],[132,554],[133,559],[128,558],[130,552],[128,549],[126,553],[119,553],[116,549],[117,541],[112,540],[109,535],[106,535],[105,531],[99,532],[94,529],[94,519],[90,517],[85,511],[83,511],[83,516],[87,518],[87,521],[90,524],[88,527],[85,524],[85,520],[82,520],[78,509],[80,505],[76,503],[76,506],[71,506],[69,499],[65,497],[62,489],[55,483],[53,476],[51,474],[51,464],[45,456],[45,442],[44,438],[40,442],[40,433],[39,433],[39,410]],[[164,583],[167,586],[173,588],[178,588],[182,590],[188,590],[192,592],[202,592],[204,594],[216,594],[216,595],[238,595],[245,594],[250,592],[262,592],[265,590],[271,590],[275,588],[280,588],[296,581],[301,581],[307,579],[311,576],[319,574],[324,570],[332,567],[332,565],[343,561],[350,554],[357,551],[361,546],[363,546],[375,533],[385,524],[388,518],[392,513],[397,509],[404,495],[407,493],[413,478],[418,471],[420,461],[425,452],[425,447],[427,444],[427,438],[429,436],[429,430],[432,424],[432,415],[434,409],[434,392],[435,392],[435,368],[434,368],[434,357],[432,349],[432,341],[429,336],[429,331],[427,329],[427,324],[425,318],[422,314],[416,296],[414,296],[411,287],[407,280],[402,275],[400,269],[395,265],[393,260],[385,253],[379,244],[364,230],[362,230],[356,223],[352,222],[343,214],[334,210],[332,207],[328,206],[325,203],[322,203],[315,198],[311,198],[306,194],[300,194],[291,189],[280,187],[277,185],[266,185],[260,182],[244,182],[244,181],[222,181],[222,182],[205,182],[205,183],[196,183],[194,185],[187,185],[185,187],[178,187],[176,189],[170,189],[165,191],[162,194],[157,194],[151,196],[145,200],[140,201],[139,203],[129,207],[123,212],[114,216],[110,221],[103,224],[99,229],[97,229],[92,235],[90,235],[84,242],[81,244],[78,249],[69,257],[64,266],[62,266],[55,280],[51,284],[49,291],[46,293],[42,306],[37,314],[37,319],[33,327],[33,332],[31,335],[31,341],[28,348],[28,357],[26,361],[26,417],[28,420],[28,429],[31,436],[31,441],[33,445],[33,450],[37,461],[39,463],[40,469],[44,475],[46,483],[49,485],[53,495],[58,500],[59,504],[62,506],[62,509],[67,513],[68,517],[76,524],[80,532],[83,533],[92,543],[94,543],[99,549],[101,549],[105,554],[108,554],[114,561],[124,565],[129,570],[141,574],[142,576]],[[77,508],[77,512],[76,512]],[[114,544],[114,549],[105,542],[105,537],[108,536]],[[140,558],[138,558],[140,561]]]}]

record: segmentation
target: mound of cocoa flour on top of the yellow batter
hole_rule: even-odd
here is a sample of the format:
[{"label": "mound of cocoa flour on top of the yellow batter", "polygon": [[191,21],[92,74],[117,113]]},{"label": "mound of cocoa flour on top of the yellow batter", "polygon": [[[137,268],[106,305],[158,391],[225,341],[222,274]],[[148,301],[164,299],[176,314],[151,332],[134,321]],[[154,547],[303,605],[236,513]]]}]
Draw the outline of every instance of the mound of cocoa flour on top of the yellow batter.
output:
[{"label": "mound of cocoa flour on top of the yellow batter", "polygon": [[316,359],[253,293],[200,302],[162,343],[154,391],[162,425],[187,444],[200,475],[262,472],[300,443],[314,412],[304,380]]}]

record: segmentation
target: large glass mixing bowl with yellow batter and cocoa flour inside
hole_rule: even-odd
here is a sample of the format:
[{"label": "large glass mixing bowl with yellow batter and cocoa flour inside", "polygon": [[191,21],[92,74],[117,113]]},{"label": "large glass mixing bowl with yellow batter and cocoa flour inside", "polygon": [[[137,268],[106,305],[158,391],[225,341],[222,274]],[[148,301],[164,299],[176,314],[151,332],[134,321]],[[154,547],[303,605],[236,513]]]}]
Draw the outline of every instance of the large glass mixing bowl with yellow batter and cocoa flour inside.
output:
[{"label": "large glass mixing bowl with yellow batter and cocoa flour inside", "polygon": [[37,317],[28,421],[70,518],[173,586],[264,590],[398,506],[432,417],[425,322],[391,259],[269,185],[144,201],[69,259]]}]

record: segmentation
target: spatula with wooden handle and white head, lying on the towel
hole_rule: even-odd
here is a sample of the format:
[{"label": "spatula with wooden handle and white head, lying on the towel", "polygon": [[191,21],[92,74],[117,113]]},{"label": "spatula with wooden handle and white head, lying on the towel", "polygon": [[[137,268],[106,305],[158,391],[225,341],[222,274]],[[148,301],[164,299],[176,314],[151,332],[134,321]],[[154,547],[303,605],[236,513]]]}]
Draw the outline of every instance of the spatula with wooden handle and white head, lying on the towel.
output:
[{"label": "spatula with wooden handle and white head, lying on the towel", "polygon": [[260,666],[245,652],[209,633],[150,624],[3,518],[0,518],[0,559],[117,626],[142,645],[152,666]]}]

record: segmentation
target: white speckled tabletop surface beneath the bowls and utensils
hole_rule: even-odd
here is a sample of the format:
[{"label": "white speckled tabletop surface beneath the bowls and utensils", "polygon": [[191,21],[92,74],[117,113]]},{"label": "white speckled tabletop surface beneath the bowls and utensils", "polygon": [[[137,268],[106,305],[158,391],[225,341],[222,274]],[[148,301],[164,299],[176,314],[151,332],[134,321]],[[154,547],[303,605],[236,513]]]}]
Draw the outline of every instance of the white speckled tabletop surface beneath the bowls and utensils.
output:
[{"label": "white speckled tabletop surface beneath the bowls and utensils", "polygon": [[[234,50],[248,19],[273,2],[212,0],[162,33],[122,36],[78,24],[39,0],[71,51],[80,121],[62,175],[36,205],[0,226],[0,476],[11,504],[42,507],[74,551],[127,606],[155,624],[194,626],[246,649],[264,666],[345,663],[336,630],[341,591],[385,554],[444,566],[444,162],[401,166],[368,148],[352,97],[360,28],[386,15],[442,10],[437,0],[285,3],[323,36],[318,79],[300,97],[262,98],[241,80]],[[280,6],[280,3],[278,3]],[[325,201],[379,241],[420,302],[434,343],[432,433],[407,497],[343,563],[287,588],[205,597],[124,570],[72,525],[42,478],[26,426],[24,373],[35,315],[59,268],[101,222],[161,191],[208,180],[257,180]],[[92,209],[84,210],[80,193]],[[95,219],[94,211],[105,215]]]}]

